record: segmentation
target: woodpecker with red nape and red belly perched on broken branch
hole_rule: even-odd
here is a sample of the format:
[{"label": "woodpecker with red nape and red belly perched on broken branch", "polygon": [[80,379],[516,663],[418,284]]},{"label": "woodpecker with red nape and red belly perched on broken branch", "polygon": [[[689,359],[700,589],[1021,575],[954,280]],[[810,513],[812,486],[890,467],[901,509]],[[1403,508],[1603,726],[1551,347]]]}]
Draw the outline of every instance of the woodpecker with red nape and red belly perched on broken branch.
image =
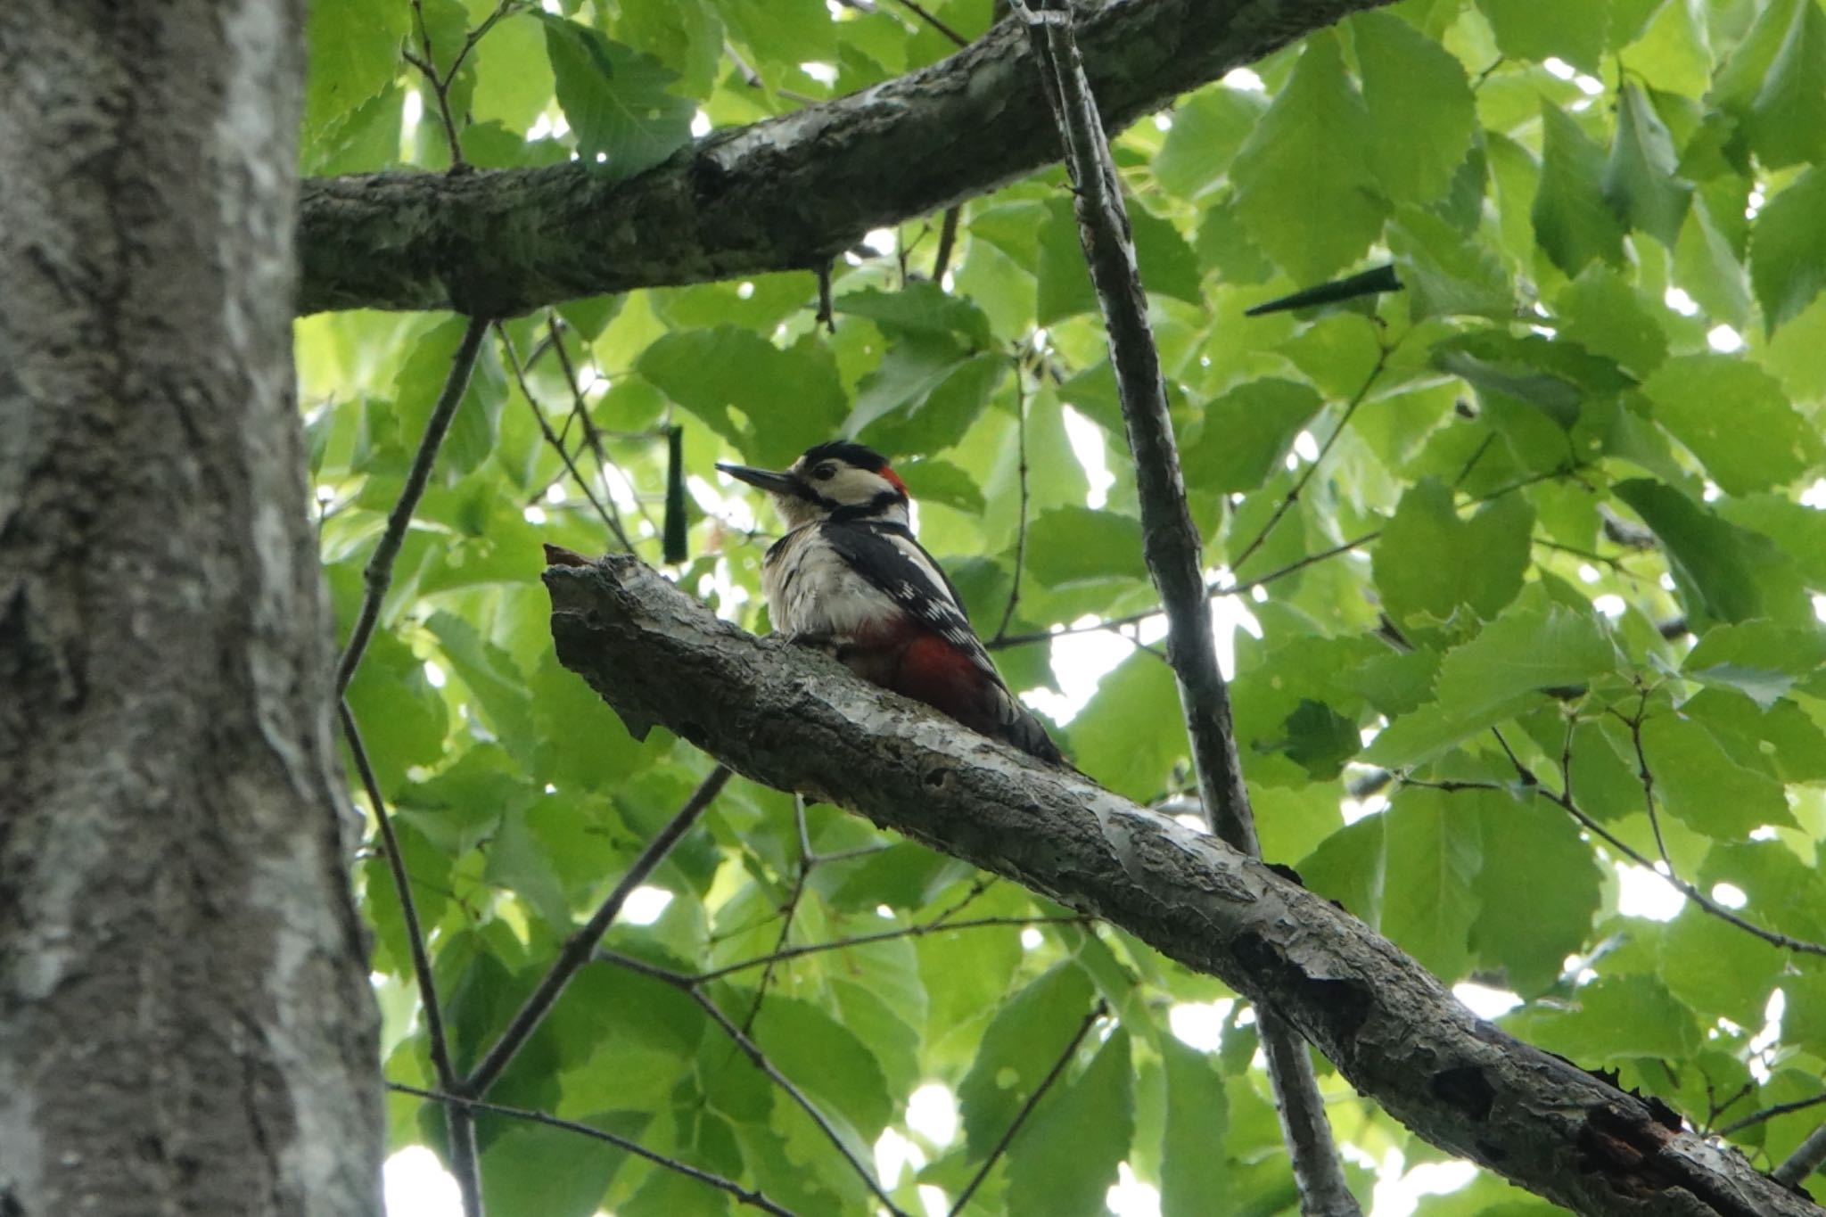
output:
[{"label": "woodpecker with red nape and red belly perched on broken branch", "polygon": [[880,452],[836,440],[785,473],[718,469],[767,491],[785,520],[787,535],[761,562],[774,629],[990,739],[1065,763],[995,671],[957,588],[913,538],[908,487]]}]

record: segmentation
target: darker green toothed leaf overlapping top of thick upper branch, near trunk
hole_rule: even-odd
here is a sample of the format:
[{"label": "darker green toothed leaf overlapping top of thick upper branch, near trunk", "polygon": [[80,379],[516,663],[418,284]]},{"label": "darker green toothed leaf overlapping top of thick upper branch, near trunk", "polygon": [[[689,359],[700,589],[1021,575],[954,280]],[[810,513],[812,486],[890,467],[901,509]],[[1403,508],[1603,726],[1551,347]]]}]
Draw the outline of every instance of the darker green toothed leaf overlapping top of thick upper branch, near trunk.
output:
[{"label": "darker green toothed leaf overlapping top of thick upper branch, near trunk", "polygon": [[666,88],[677,75],[588,26],[540,13],[559,106],[577,155],[610,177],[634,177],[690,142],[696,106]]}]

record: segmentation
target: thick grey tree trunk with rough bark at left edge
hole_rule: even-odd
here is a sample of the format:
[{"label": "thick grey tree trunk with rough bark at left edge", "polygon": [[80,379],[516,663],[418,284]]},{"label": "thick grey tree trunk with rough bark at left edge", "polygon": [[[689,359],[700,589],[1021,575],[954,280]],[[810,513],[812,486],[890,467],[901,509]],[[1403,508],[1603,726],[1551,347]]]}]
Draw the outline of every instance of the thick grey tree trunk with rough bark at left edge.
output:
[{"label": "thick grey tree trunk with rough bark at left edge", "polygon": [[292,401],[303,4],[0,5],[0,1213],[380,1212]]}]

